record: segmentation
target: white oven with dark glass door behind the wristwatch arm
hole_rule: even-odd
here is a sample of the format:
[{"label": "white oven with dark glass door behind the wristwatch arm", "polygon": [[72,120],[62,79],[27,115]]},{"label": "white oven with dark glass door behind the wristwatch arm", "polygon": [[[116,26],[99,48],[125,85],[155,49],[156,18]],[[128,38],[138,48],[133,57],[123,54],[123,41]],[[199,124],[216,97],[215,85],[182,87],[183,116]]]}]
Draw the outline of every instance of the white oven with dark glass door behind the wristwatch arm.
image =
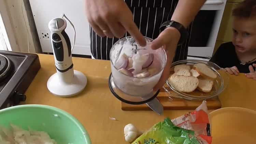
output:
[{"label": "white oven with dark glass door behind the wristwatch arm", "polygon": [[212,57],[227,0],[207,0],[195,17],[188,44],[188,59]]}]

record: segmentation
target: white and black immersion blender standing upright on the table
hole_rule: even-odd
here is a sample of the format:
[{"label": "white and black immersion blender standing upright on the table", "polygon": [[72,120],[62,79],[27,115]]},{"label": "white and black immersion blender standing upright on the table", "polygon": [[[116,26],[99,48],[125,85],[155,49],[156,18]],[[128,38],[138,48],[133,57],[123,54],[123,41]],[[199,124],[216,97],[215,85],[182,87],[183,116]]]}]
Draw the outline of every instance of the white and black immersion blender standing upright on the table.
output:
[{"label": "white and black immersion blender standing upright on the table", "polygon": [[[63,15],[62,17],[66,16]],[[69,22],[74,28],[70,20]],[[81,92],[87,84],[86,76],[82,72],[73,69],[71,54],[75,44],[75,34],[71,49],[70,39],[65,32],[67,21],[64,18],[52,19],[49,21],[48,27],[51,31],[50,37],[57,72],[48,79],[47,88],[59,97],[74,96]]]}]

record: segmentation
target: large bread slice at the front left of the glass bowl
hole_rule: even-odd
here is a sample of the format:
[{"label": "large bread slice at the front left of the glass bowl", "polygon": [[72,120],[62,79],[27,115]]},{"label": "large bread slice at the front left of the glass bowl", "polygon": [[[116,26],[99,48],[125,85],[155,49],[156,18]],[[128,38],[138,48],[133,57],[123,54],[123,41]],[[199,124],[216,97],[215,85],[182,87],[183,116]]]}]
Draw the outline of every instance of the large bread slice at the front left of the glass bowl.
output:
[{"label": "large bread slice at the front left of the glass bowl", "polygon": [[199,84],[198,78],[194,76],[172,75],[168,81],[180,92],[192,92]]}]

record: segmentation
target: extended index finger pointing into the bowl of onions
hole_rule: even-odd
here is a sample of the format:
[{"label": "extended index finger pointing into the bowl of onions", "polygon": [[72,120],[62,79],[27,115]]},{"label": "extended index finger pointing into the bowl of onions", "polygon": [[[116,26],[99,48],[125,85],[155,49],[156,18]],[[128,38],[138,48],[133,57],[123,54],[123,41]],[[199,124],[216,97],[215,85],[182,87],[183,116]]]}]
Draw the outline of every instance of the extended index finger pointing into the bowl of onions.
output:
[{"label": "extended index finger pointing into the bowl of onions", "polygon": [[126,18],[121,20],[120,23],[126,29],[127,32],[136,40],[136,42],[141,46],[146,46],[146,40],[141,34],[140,30],[132,20],[127,20]]}]

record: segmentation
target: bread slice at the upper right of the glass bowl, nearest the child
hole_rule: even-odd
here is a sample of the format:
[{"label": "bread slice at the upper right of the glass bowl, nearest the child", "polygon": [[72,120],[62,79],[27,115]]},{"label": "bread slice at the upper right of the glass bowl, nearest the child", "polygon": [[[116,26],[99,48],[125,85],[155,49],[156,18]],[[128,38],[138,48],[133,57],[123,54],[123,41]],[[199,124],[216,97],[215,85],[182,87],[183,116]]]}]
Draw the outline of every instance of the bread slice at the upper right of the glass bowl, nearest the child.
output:
[{"label": "bread slice at the upper right of the glass bowl, nearest the child", "polygon": [[210,69],[206,64],[194,64],[193,69],[195,69],[204,78],[209,78],[211,80],[215,80],[217,78],[217,74],[212,69]]}]

